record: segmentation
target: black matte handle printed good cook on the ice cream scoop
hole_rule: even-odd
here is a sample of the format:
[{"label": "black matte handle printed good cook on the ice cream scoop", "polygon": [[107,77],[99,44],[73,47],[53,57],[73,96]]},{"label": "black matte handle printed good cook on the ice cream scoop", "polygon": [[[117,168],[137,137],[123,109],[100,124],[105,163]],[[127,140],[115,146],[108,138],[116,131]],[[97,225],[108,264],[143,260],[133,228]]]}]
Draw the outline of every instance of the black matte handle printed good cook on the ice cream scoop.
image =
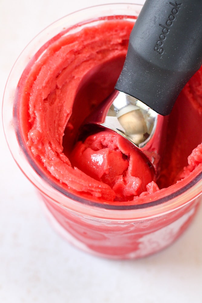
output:
[{"label": "black matte handle printed good cook on the ice cream scoop", "polygon": [[161,115],[202,64],[202,0],[146,0],[115,88]]}]

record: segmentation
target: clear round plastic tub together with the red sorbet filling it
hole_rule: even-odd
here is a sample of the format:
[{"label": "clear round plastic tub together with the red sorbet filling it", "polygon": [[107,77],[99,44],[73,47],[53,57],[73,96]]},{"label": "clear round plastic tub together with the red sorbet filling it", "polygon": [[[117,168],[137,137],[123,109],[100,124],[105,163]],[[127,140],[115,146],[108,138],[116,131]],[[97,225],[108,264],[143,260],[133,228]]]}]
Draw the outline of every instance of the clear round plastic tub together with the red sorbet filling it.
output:
[{"label": "clear round plastic tub together with the red sorbet filling it", "polygon": [[202,69],[169,116],[158,178],[116,133],[79,138],[84,119],[114,90],[140,10],[109,4],[55,22],[22,52],[4,94],[9,148],[51,224],[76,247],[113,259],[167,247],[201,201]]}]

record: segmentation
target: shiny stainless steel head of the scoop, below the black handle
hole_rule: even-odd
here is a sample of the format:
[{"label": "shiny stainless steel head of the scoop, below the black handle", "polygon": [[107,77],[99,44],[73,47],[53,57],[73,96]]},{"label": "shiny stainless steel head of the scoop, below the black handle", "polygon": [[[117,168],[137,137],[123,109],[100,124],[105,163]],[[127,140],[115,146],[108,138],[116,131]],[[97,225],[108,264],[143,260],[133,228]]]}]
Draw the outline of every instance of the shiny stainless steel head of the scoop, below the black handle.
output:
[{"label": "shiny stainless steel head of the scoop, below the black handle", "polygon": [[146,155],[157,174],[167,120],[168,116],[115,89],[88,117],[82,133],[96,132],[95,125],[117,132]]}]

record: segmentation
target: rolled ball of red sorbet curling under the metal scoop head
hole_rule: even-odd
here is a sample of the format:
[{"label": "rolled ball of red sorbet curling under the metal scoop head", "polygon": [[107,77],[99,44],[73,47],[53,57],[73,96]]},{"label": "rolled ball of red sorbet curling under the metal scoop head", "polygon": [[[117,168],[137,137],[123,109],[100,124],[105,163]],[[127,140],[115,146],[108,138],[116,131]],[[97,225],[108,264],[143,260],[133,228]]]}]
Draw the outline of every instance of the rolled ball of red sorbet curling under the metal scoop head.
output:
[{"label": "rolled ball of red sorbet curling under the metal scoop head", "polygon": [[145,157],[112,131],[77,142],[70,161],[90,177],[108,184],[115,192],[115,201],[133,200],[147,191],[154,177]]}]

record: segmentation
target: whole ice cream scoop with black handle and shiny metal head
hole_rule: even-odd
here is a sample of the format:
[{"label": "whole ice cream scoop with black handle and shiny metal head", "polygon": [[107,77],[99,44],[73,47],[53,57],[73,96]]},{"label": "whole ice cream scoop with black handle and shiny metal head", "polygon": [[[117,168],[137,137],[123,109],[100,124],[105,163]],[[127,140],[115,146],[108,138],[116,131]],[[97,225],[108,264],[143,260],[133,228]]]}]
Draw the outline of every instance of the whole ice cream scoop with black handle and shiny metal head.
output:
[{"label": "whole ice cream scoop with black handle and shiny metal head", "polygon": [[[146,0],[132,29],[115,90],[82,127],[109,128],[131,141],[155,173],[168,116],[202,64],[202,1]],[[182,108],[183,110],[183,108]]]}]

